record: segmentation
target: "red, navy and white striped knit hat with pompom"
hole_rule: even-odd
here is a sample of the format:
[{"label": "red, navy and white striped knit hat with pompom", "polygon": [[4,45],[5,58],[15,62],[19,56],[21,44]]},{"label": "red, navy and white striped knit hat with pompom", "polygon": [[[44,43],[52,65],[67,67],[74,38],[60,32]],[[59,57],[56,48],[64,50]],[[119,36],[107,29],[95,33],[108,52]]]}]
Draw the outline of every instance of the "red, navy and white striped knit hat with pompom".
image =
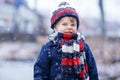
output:
[{"label": "red, navy and white striped knit hat with pompom", "polygon": [[51,28],[53,29],[55,24],[63,17],[69,16],[74,17],[77,21],[77,29],[79,27],[79,16],[76,10],[70,7],[69,3],[61,2],[58,6],[58,9],[53,12],[51,18]]}]

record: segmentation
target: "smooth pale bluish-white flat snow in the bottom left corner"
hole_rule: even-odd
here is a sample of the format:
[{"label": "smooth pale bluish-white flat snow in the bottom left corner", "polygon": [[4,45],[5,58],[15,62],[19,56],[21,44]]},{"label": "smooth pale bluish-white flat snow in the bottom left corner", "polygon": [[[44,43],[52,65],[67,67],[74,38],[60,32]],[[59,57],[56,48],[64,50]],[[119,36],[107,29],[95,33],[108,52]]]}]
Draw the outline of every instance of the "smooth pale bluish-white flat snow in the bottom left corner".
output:
[{"label": "smooth pale bluish-white flat snow in the bottom left corner", "polygon": [[33,63],[0,61],[0,80],[33,80]]}]

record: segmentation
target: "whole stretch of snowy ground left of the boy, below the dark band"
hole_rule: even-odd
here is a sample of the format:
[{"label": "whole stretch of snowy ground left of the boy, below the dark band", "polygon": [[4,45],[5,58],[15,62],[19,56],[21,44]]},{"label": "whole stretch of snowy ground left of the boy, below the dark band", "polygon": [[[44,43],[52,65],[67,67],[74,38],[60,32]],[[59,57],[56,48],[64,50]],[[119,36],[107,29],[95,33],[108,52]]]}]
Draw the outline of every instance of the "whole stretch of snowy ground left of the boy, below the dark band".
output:
[{"label": "whole stretch of snowy ground left of the boy, below the dark band", "polygon": [[39,48],[32,42],[0,42],[0,80],[33,80]]}]

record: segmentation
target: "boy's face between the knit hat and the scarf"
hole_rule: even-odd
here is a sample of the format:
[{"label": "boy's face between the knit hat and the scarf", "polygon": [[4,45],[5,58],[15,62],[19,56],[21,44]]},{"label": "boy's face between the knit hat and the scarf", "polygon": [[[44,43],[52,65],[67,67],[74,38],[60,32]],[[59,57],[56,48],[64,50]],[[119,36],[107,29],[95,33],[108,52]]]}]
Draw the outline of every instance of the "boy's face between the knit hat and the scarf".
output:
[{"label": "boy's face between the knit hat and the scarf", "polygon": [[77,32],[77,21],[73,17],[63,17],[55,25],[54,30],[61,33],[76,33]]}]

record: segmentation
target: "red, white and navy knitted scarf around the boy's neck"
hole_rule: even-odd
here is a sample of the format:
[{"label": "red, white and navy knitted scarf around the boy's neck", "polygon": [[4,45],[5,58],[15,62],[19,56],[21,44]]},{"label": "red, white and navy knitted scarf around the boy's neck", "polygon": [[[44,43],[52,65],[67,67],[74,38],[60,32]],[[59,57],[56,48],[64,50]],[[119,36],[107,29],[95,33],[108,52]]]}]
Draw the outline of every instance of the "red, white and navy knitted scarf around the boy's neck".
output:
[{"label": "red, white and navy knitted scarf around the boy's neck", "polygon": [[61,47],[62,72],[77,74],[80,79],[87,78],[88,67],[84,51],[84,37],[80,33],[63,34],[54,32],[49,37],[56,45]]}]

